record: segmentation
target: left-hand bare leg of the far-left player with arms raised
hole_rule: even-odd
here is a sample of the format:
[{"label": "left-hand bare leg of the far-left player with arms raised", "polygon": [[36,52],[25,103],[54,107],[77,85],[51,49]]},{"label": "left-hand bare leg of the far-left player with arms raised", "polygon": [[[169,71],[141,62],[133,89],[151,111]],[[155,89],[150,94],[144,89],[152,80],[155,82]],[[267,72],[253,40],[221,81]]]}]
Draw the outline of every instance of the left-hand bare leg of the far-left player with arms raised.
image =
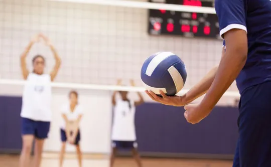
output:
[{"label": "left-hand bare leg of the far-left player with arms raised", "polygon": [[20,167],[28,167],[30,161],[30,154],[32,150],[32,144],[34,140],[34,136],[32,134],[23,135],[23,148],[20,156]]}]

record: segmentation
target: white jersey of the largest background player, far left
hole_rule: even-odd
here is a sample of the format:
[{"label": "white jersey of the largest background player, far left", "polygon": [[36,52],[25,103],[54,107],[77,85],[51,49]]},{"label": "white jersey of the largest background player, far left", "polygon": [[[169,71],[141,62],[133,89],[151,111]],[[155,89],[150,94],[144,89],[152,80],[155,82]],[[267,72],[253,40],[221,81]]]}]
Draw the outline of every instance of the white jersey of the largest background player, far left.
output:
[{"label": "white jersey of the largest background player, far left", "polygon": [[51,121],[51,76],[30,73],[23,92],[21,117],[35,121]]}]

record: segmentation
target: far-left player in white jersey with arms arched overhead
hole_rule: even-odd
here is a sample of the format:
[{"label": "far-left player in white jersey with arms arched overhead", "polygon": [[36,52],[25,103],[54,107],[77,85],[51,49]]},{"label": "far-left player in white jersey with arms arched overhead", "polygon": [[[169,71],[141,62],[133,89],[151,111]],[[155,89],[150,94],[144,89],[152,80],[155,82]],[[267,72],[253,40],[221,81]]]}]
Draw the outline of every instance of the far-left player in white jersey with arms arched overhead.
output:
[{"label": "far-left player in white jersey with arms arched overhead", "polygon": [[[26,64],[27,55],[31,47],[40,40],[51,48],[56,64],[50,74],[44,74],[45,58],[37,55],[32,59],[33,72],[29,72]],[[33,165],[39,167],[44,139],[47,138],[51,121],[51,86],[58,73],[61,60],[48,38],[42,34],[35,36],[21,56],[23,77],[27,80],[23,93],[22,139],[23,147],[20,156],[20,167],[29,167],[32,144],[35,139]]]}]

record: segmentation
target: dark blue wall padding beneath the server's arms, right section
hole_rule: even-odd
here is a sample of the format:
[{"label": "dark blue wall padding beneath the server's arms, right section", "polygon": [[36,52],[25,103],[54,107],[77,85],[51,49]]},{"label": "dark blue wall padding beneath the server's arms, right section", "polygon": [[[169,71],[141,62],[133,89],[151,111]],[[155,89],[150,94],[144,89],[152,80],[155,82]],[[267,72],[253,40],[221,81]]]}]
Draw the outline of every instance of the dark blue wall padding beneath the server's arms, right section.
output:
[{"label": "dark blue wall padding beneath the server's arms, right section", "polygon": [[238,138],[235,107],[215,107],[200,123],[184,118],[183,107],[145,103],[137,108],[139,150],[164,153],[234,154]]}]

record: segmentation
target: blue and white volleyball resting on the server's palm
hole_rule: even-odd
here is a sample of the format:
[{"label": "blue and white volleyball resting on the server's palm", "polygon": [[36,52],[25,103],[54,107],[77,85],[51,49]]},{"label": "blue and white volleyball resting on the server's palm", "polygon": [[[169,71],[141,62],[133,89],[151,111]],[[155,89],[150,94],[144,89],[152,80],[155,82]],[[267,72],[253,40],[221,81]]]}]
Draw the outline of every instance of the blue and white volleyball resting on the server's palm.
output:
[{"label": "blue and white volleyball resting on the server's palm", "polygon": [[141,69],[141,79],[147,90],[159,95],[176,95],[186,81],[184,62],[171,52],[159,52],[145,60]]}]

